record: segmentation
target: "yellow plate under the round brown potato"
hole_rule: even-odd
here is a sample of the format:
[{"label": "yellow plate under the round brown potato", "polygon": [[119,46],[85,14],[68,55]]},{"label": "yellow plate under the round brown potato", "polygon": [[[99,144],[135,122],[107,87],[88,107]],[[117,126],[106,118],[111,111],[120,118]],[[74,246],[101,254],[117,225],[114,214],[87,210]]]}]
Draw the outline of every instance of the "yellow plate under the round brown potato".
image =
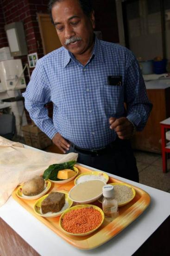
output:
[{"label": "yellow plate under the round brown potato", "polygon": [[17,189],[16,195],[22,199],[34,200],[34,199],[37,199],[37,198],[45,195],[49,191],[49,189],[51,187],[51,182],[45,181],[44,190],[41,193],[39,193],[38,195],[24,195],[22,193],[22,186],[23,185],[19,186],[19,188]]}]

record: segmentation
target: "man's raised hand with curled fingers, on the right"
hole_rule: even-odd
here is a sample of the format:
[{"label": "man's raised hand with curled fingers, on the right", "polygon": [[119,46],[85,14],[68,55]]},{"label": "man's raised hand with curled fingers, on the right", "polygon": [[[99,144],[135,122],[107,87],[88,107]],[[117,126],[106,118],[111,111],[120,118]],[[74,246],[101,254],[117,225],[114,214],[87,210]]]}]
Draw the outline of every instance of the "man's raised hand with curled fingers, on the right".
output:
[{"label": "man's raised hand with curled fingers, on the right", "polygon": [[114,129],[118,137],[122,140],[129,139],[133,134],[133,125],[126,117],[109,118],[110,128]]}]

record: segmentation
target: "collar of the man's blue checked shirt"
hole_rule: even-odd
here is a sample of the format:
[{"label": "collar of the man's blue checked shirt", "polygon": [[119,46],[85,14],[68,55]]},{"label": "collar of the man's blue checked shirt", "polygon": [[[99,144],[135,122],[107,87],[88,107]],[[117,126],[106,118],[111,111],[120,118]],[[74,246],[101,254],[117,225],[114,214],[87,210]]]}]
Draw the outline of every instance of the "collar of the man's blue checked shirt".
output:
[{"label": "collar of the man's blue checked shirt", "polygon": [[[63,59],[63,67],[66,67],[71,60],[74,60],[74,55],[64,48],[65,57]],[[96,57],[101,62],[104,61],[103,49],[100,40],[95,36],[94,48],[92,56]],[[92,60],[93,58],[91,58]]]}]

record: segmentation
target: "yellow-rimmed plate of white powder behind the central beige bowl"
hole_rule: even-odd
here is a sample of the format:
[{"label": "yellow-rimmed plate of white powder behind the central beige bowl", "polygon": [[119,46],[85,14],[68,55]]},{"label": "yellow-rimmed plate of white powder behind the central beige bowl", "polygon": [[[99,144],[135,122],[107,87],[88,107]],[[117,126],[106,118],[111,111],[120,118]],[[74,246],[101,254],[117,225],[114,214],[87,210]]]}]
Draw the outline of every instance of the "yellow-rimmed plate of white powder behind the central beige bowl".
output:
[{"label": "yellow-rimmed plate of white powder behind the central beige bowl", "polygon": [[[89,175],[93,175],[93,176],[89,176]],[[82,173],[81,175],[78,175],[75,179],[75,185],[77,185],[78,183],[82,183],[82,182],[78,182],[79,179],[82,179],[83,176],[86,176],[87,179],[89,180],[94,180],[94,179],[99,179],[102,180],[104,182],[108,182],[109,176],[104,173],[104,172],[100,172],[100,171],[90,171],[90,172],[86,172],[86,173]],[[95,176],[95,177],[94,177]],[[102,177],[100,179],[100,177]]]}]

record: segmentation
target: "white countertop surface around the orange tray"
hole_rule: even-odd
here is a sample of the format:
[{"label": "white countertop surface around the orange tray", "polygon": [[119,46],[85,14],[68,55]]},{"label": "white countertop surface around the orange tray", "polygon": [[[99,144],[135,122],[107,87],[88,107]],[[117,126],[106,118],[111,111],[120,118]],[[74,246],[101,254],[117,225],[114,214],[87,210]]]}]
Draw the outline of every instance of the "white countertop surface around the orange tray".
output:
[{"label": "white countertop surface around the orange tray", "polygon": [[22,208],[12,197],[0,208],[0,217],[41,256],[68,256],[68,254],[71,256],[87,254],[131,256],[170,215],[170,193],[116,175],[108,175],[145,190],[151,196],[151,203],[142,215],[126,229],[96,249],[86,251],[69,245],[26,209]]}]

